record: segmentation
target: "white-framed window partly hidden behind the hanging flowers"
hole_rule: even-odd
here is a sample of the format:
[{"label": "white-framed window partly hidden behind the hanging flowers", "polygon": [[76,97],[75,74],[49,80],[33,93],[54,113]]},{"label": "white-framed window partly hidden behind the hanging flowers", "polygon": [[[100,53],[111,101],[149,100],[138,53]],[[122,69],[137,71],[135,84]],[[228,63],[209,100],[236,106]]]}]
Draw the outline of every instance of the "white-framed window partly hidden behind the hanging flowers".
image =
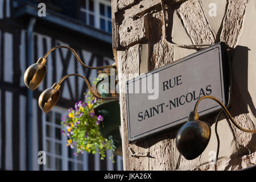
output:
[{"label": "white-framed window partly hidden behind the hanging flowers", "polygon": [[44,114],[44,170],[88,170],[88,154],[73,155],[76,149],[66,146],[67,136],[61,134],[61,117],[64,114],[67,110],[59,107]]}]

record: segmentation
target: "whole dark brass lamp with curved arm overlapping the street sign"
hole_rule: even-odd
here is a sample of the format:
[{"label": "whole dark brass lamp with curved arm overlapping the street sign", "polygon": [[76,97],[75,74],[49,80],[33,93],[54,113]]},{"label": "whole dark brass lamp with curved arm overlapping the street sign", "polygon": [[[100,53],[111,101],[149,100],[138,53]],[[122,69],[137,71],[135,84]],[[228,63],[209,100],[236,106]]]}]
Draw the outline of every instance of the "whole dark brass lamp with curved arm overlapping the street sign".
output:
[{"label": "whole dark brass lamp with curved arm overlapping the street sign", "polygon": [[210,98],[220,104],[226,115],[232,123],[240,130],[248,133],[256,133],[256,130],[243,129],[237,124],[230,115],[228,109],[217,98],[212,96],[204,96],[196,102],[195,109],[189,114],[188,122],[185,123],[177,133],[176,146],[177,150],[185,159],[192,160],[197,158],[207,147],[210,140],[210,126],[208,123],[199,121],[197,107],[199,102],[205,98]]}]

